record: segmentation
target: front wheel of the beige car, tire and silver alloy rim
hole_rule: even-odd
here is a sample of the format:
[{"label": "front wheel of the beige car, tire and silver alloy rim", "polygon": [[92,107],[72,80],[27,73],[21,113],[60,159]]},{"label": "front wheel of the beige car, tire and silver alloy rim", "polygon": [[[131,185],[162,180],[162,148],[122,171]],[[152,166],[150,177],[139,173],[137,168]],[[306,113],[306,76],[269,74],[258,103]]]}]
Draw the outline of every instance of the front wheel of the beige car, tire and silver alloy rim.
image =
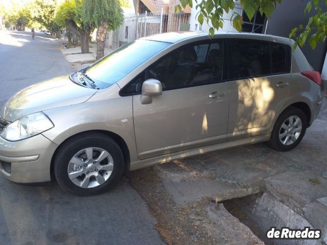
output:
[{"label": "front wheel of the beige car, tire and silver alloy rim", "polygon": [[54,161],[58,184],[75,195],[105,192],[120,179],[124,157],[119,145],[101,133],[80,134],[64,142]]}]

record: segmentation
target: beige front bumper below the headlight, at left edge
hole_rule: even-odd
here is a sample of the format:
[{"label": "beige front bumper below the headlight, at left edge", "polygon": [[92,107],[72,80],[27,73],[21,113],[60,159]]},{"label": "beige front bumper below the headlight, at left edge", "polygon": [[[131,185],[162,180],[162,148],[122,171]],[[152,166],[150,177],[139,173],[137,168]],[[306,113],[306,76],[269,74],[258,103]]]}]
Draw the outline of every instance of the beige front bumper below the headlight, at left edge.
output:
[{"label": "beige front bumper below the headlight, at left edge", "polygon": [[17,183],[51,181],[51,159],[57,147],[42,134],[15,142],[0,137],[0,173]]}]

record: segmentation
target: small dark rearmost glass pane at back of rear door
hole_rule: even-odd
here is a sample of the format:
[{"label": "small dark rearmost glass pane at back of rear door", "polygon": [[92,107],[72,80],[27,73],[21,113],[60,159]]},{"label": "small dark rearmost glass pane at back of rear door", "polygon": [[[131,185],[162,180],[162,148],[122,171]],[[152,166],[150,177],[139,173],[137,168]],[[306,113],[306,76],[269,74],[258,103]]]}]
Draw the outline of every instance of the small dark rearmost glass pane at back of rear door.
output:
[{"label": "small dark rearmost glass pane at back of rear door", "polygon": [[290,72],[291,65],[288,60],[287,45],[272,43],[271,46],[271,61],[272,73]]}]

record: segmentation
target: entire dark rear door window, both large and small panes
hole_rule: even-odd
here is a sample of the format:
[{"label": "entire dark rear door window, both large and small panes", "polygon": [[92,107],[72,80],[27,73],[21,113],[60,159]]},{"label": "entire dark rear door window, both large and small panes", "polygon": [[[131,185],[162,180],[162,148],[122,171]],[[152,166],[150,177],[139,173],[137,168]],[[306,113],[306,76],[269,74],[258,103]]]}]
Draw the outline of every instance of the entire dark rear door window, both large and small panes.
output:
[{"label": "entire dark rear door window, both large and small panes", "polygon": [[289,73],[290,69],[290,49],[285,44],[242,39],[231,41],[230,78],[263,77]]}]

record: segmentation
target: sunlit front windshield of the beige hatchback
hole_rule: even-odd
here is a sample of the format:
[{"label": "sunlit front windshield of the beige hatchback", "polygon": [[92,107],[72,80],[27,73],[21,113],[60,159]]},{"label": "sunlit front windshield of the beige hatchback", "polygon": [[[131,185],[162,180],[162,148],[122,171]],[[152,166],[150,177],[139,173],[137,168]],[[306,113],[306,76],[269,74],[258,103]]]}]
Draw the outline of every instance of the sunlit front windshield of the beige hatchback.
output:
[{"label": "sunlit front windshield of the beige hatchback", "polygon": [[169,45],[167,42],[136,40],[103,57],[83,73],[98,88],[107,88]]}]

